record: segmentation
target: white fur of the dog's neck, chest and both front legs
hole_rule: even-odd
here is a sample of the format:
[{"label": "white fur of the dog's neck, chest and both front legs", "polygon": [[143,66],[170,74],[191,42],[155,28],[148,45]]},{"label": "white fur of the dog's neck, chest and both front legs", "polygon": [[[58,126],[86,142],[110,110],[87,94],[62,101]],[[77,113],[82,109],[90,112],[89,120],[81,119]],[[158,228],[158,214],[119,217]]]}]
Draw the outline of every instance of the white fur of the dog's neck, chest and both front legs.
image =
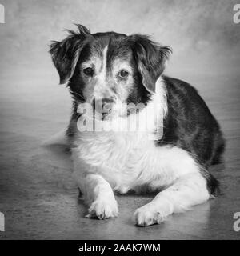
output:
[{"label": "white fur of the dog's neck, chest and both front legs", "polygon": [[[160,103],[160,105],[159,105]],[[158,106],[150,117],[155,123],[167,113],[165,86],[158,79],[156,94],[143,109]],[[143,120],[144,121],[144,120]],[[143,122],[144,123],[144,122]],[[74,138],[74,178],[90,206],[87,217],[111,218],[118,214],[114,190],[126,193],[160,191],[146,206],[136,210],[139,226],[162,222],[168,215],[188,210],[209,198],[206,180],[194,158],[177,146],[155,146],[152,130],[137,132],[82,132]]]}]

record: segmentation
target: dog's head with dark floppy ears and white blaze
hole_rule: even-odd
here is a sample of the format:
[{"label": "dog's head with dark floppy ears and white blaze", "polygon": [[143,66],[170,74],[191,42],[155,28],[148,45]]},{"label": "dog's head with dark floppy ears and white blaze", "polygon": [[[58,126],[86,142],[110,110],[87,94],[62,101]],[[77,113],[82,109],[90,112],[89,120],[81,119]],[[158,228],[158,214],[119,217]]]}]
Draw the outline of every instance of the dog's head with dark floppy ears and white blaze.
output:
[{"label": "dog's head with dark floppy ears and white blaze", "polygon": [[146,104],[155,91],[170,48],[152,42],[146,35],[114,32],[90,34],[85,26],[68,30],[62,42],[50,45],[50,54],[60,76],[78,102],[93,106],[101,102],[121,114],[129,103]]}]

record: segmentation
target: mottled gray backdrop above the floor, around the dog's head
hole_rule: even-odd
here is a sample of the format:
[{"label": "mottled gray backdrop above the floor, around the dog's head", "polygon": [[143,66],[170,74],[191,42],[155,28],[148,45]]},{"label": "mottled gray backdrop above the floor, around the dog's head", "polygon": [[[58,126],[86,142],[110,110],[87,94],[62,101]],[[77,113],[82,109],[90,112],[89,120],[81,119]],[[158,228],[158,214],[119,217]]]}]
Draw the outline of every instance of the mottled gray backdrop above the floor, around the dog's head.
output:
[{"label": "mottled gray backdrop above the floor, around the dog's head", "polygon": [[[171,46],[171,74],[232,74],[239,70],[240,24],[231,0],[1,0],[1,72],[54,72],[47,54],[50,40],[81,23],[92,32],[150,34]],[[22,71],[23,70],[23,71]]]}]

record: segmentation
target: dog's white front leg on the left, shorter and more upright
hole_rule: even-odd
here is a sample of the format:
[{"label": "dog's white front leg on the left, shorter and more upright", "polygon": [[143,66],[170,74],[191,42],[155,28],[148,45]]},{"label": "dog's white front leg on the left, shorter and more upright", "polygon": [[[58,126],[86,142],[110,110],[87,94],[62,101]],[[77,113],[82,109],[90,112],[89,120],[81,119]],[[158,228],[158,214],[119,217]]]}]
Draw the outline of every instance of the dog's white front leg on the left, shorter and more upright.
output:
[{"label": "dog's white front leg on the left, shorter and more upright", "polygon": [[87,218],[113,218],[118,215],[118,204],[110,184],[99,174],[79,174],[74,171],[78,186],[89,207]]}]

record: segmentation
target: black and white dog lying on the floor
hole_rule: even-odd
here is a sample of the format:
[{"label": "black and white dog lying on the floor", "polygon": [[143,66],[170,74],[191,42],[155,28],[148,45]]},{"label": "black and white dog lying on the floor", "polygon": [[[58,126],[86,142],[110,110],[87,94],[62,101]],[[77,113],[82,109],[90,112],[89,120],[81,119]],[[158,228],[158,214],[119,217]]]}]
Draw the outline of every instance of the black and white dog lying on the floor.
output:
[{"label": "black and white dog lying on the floor", "polygon": [[[146,35],[90,34],[81,25],[68,33],[51,44],[50,54],[60,83],[68,82],[74,99],[66,137],[74,177],[89,206],[87,217],[117,216],[114,191],[157,192],[135,211],[138,226],[160,223],[216,195],[218,181],[208,167],[221,159],[222,132],[194,87],[162,75],[170,48]],[[98,110],[100,104],[93,119],[103,124],[135,116],[150,127],[81,130],[78,108],[85,103]],[[139,103],[138,111],[125,111],[126,105]]]}]

